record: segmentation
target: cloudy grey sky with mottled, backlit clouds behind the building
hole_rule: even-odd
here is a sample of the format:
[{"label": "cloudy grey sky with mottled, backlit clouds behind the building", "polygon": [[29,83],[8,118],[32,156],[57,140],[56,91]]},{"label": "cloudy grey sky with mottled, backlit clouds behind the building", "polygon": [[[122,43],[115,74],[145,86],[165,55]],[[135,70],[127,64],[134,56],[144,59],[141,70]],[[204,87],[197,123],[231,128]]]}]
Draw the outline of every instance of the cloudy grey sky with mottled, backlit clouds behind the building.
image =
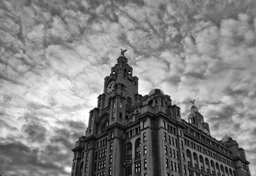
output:
[{"label": "cloudy grey sky with mottled, backlit clouds behind the building", "polygon": [[120,54],[139,93],[161,88],[256,175],[256,1],[0,0],[0,175],[70,175]]}]

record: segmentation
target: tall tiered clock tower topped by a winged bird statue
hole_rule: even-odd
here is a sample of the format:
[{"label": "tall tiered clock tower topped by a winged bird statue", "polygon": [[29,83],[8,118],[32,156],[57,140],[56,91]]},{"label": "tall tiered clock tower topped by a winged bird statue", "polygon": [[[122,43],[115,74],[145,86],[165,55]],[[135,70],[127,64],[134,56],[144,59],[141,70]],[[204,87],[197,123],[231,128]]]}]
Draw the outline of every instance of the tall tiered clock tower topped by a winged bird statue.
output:
[{"label": "tall tiered clock tower topped by a winged bird statue", "polygon": [[132,67],[122,50],[111,73],[105,77],[103,93],[98,97],[99,115],[109,108],[109,125],[125,125],[125,109],[135,104],[138,97],[138,77],[132,76]]}]

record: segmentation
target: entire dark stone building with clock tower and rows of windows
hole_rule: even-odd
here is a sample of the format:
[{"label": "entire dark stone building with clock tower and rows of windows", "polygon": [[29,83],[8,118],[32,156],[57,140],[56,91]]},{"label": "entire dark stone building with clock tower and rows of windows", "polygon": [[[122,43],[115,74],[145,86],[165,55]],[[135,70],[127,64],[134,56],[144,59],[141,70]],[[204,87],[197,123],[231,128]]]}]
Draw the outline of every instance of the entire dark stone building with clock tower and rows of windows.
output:
[{"label": "entire dark stone building with clock tower and rows of windows", "polygon": [[186,122],[162,90],[140,95],[124,52],[72,149],[72,176],[250,175],[243,148],[229,136],[213,138],[195,100]]}]

